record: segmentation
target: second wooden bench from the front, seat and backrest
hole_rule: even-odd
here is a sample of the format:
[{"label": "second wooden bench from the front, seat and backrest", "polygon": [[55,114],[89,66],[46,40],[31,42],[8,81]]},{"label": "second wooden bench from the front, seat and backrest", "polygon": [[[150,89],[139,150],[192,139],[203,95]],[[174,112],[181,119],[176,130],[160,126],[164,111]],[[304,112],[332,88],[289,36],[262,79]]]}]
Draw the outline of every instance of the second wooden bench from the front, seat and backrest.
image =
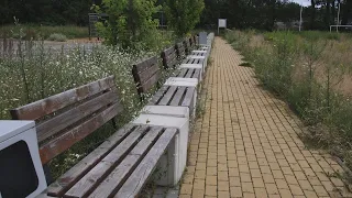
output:
[{"label": "second wooden bench from the front, seat and backrest", "polygon": [[[147,64],[145,63],[147,62]],[[150,74],[145,70],[150,67],[150,65],[157,65],[156,58],[148,58],[144,62],[141,62],[134,66],[135,72],[133,73],[136,75],[134,79],[136,80],[136,85],[143,85],[140,79],[144,79],[145,81],[148,81],[148,86],[146,88],[155,87],[158,82],[158,78],[155,78],[154,76],[146,75]],[[151,69],[153,70],[153,69]],[[142,73],[143,72],[143,73]],[[189,74],[193,75],[193,74]],[[148,91],[148,89],[140,89],[142,92],[145,94]],[[142,95],[141,95],[142,96]],[[182,107],[188,107],[189,111],[193,112],[195,100],[196,100],[196,85],[188,87],[188,86],[170,86],[170,85],[164,85],[161,89],[156,91],[156,94],[153,96],[153,98],[150,100],[148,106],[182,106]]]}]

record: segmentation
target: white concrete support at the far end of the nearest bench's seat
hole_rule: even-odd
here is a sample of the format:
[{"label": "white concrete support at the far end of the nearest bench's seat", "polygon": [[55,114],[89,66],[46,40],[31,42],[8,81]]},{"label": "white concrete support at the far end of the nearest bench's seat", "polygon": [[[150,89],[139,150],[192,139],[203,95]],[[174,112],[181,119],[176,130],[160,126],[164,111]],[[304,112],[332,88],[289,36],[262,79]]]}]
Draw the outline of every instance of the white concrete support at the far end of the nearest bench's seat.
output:
[{"label": "white concrete support at the far end of the nearest bench's seat", "polygon": [[156,184],[161,186],[177,185],[186,168],[189,119],[157,114],[140,114],[133,123],[178,129],[179,133],[175,136],[175,142],[168,147],[167,153],[162,156],[157,167],[161,173],[165,174],[162,174],[161,178],[156,180]]}]

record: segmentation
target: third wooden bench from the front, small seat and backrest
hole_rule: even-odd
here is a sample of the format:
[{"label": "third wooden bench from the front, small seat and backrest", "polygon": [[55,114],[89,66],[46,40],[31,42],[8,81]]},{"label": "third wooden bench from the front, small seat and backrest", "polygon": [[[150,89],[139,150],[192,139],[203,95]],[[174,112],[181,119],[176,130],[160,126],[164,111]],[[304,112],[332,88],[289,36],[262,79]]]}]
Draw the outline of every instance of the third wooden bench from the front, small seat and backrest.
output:
[{"label": "third wooden bench from the front, small seat and backrest", "polygon": [[[176,47],[172,46],[162,52],[163,66],[165,69],[176,68],[178,65],[177,52]],[[179,68],[176,72],[175,77],[179,78],[197,78],[199,81],[201,80],[201,69],[196,67],[184,67]]]}]

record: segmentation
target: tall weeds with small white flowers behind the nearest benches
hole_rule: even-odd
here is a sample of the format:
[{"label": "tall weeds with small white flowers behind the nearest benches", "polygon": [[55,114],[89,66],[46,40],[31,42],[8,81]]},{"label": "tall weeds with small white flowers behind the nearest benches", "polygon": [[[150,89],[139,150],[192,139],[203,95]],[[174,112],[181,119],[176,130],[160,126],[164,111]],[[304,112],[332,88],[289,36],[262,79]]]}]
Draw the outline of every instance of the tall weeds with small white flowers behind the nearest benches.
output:
[{"label": "tall weeds with small white flowers behind the nearest benches", "polygon": [[[158,37],[163,41],[154,41],[154,48],[148,51],[127,52],[117,46],[97,45],[89,52],[77,47],[61,53],[45,50],[43,41],[19,40],[19,43],[12,44],[12,47],[16,47],[16,55],[3,53],[0,57],[0,120],[11,119],[9,110],[12,108],[114,75],[124,108],[123,114],[118,118],[119,125],[122,127],[131,121],[144,105],[136,92],[132,65],[150,56],[160,56],[158,50],[169,44],[170,41],[166,38],[170,37],[172,35],[166,34]],[[173,72],[163,70],[161,81]],[[148,99],[151,94],[144,98]],[[98,132],[54,158],[50,164],[53,177],[65,173],[113,132],[116,130],[112,124],[107,123]]]}]

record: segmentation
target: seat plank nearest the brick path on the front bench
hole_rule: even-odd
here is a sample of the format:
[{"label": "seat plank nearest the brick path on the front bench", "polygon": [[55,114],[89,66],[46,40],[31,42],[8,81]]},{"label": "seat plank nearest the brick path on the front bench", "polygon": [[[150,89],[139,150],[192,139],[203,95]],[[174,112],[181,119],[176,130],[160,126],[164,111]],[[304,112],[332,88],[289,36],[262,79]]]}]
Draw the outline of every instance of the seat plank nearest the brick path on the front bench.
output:
[{"label": "seat plank nearest the brick path on the front bench", "polygon": [[140,165],[120,188],[118,194],[114,196],[116,198],[134,198],[139,195],[176,133],[176,129],[165,130]]}]

